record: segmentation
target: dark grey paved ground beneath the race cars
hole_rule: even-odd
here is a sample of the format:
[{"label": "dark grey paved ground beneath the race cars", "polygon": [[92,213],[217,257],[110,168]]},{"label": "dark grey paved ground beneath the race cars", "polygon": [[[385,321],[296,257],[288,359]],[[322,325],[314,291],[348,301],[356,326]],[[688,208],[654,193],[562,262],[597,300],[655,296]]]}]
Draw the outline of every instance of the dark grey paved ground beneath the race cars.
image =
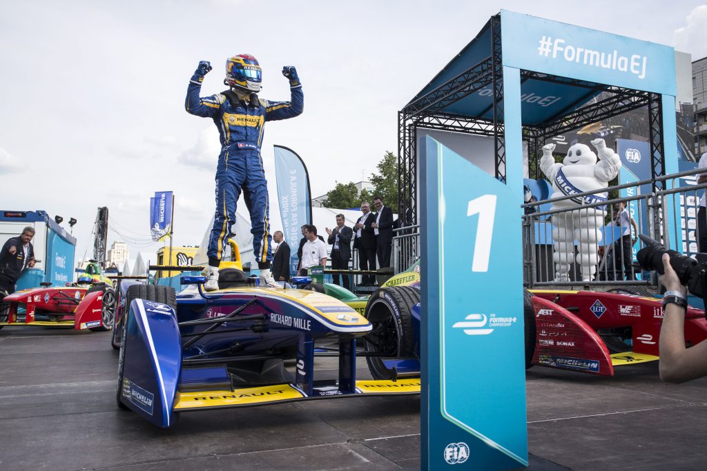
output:
[{"label": "dark grey paved ground beneath the race cars", "polygon": [[[419,397],[189,412],[163,430],[115,405],[110,333],[6,327],[0,362],[0,470],[419,468]],[[534,366],[530,470],[704,470],[706,399],[707,379],[661,383],[657,362],[612,378]]]}]

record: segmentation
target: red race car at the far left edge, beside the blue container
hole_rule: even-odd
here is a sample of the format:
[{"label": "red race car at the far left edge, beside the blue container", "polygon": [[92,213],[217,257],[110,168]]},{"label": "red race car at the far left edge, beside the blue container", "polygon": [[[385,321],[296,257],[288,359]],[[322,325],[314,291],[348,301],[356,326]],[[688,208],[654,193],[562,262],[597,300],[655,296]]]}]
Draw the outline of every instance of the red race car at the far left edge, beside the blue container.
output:
[{"label": "red race car at the far left edge, beside the blue container", "polygon": [[115,291],[105,283],[40,287],[9,294],[0,304],[4,326],[73,327],[111,330]]}]

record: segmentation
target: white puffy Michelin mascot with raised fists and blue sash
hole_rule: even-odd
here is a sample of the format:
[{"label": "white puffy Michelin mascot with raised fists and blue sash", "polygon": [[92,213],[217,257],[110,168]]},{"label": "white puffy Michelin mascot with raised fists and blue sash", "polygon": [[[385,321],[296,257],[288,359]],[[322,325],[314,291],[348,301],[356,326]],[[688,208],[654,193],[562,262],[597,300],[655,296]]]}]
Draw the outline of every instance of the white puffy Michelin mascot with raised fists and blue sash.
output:
[{"label": "white puffy Michelin mascot with raised fists and blue sash", "polygon": [[[572,145],[562,163],[552,157],[554,144],[542,148],[540,169],[552,182],[551,198],[571,196],[585,191],[607,188],[609,181],[619,174],[621,160],[614,150],[607,148],[604,139],[595,139],[592,145],[597,154],[585,144]],[[607,193],[597,191],[594,195],[568,198],[552,203],[553,209],[578,208],[576,211],[552,215],[552,260],[555,263],[555,281],[568,282],[569,266],[574,261],[574,241],[579,241],[576,263],[581,268],[582,281],[592,280],[599,256],[597,244],[602,240],[600,228],[604,225],[605,206],[582,208],[583,205],[607,201]]]}]

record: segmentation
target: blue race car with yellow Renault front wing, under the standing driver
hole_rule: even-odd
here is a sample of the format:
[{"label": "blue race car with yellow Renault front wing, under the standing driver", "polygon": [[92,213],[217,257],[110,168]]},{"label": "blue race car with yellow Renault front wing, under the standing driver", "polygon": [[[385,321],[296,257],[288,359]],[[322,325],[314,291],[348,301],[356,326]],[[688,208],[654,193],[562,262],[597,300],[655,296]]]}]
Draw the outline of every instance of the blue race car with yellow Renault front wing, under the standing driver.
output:
[{"label": "blue race car with yellow Renault front wing, under the standing driver", "polygon": [[[119,323],[119,407],[170,427],[180,412],[194,410],[419,394],[419,345],[401,338],[399,318],[379,312],[375,302],[366,318],[320,292],[256,287],[233,268],[221,270],[217,291],[204,292],[204,281],[182,277],[186,288],[179,294],[122,283],[127,314]],[[417,304],[417,290],[404,292]],[[404,314],[412,329],[413,316]],[[417,321],[419,330],[419,314]],[[317,377],[318,355],[338,357],[337,378]],[[358,356],[370,360],[375,379],[356,378]],[[286,360],[294,361],[293,369]]]}]

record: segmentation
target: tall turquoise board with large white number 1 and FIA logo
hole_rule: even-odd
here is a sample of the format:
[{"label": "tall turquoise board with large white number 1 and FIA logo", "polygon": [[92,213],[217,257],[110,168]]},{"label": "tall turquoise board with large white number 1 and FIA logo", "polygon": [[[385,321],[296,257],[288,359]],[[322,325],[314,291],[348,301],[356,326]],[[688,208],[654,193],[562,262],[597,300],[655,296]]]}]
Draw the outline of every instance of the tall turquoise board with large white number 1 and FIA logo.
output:
[{"label": "tall turquoise board with large white number 1 and FIA logo", "polygon": [[421,165],[423,467],[527,465],[520,171],[511,188],[430,137]]}]

